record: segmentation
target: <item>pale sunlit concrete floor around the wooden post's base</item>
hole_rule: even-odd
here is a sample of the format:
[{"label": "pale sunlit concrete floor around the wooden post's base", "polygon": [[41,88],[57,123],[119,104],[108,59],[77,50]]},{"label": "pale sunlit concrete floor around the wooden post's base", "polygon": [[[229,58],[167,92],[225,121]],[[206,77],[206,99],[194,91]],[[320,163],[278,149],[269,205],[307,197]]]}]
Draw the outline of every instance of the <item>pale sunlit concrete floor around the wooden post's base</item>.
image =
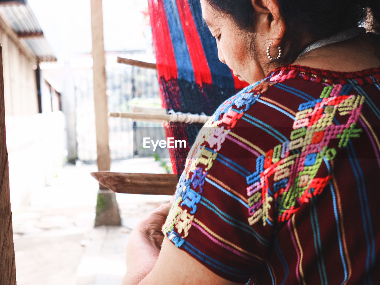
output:
[{"label": "pale sunlit concrete floor around the wooden post's base", "polygon": [[[94,228],[98,183],[89,173],[96,170],[66,165],[51,186],[30,193],[29,206],[13,211],[18,285],[121,284],[131,230],[170,197],[117,194],[122,226]],[[111,171],[163,173],[151,159],[113,161]]]}]

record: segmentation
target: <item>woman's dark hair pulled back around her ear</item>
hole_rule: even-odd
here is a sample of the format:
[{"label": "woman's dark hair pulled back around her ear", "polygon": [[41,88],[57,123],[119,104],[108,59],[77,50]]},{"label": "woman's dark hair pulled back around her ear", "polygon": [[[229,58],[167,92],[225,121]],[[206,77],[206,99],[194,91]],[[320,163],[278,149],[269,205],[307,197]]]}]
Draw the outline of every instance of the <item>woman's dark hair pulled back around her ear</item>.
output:
[{"label": "woman's dark hair pulled back around her ear", "polygon": [[[286,52],[276,60],[280,65],[294,62],[301,51],[310,44],[304,43],[304,35],[310,36],[312,42],[318,41],[343,30],[358,27],[359,24],[364,24],[366,19],[371,19],[366,23],[371,31],[380,32],[379,0],[277,1],[286,25],[281,39],[281,46],[285,47]],[[214,9],[231,16],[242,30],[247,32],[255,30],[255,11],[251,0],[207,0],[207,2]]]}]

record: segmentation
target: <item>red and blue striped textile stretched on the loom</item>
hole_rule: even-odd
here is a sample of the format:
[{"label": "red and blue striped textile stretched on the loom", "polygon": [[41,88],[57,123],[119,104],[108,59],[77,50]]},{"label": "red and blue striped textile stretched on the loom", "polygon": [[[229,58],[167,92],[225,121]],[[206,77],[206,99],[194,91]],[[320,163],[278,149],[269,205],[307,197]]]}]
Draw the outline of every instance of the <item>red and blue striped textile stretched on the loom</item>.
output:
[{"label": "red and blue striped textile stretched on the loom", "polygon": [[[148,4],[163,108],[212,115],[220,103],[247,86],[218,60],[199,0],[148,0]],[[166,126],[167,137],[188,142],[186,149],[169,149],[174,172],[182,173],[200,128],[201,124]]]}]

